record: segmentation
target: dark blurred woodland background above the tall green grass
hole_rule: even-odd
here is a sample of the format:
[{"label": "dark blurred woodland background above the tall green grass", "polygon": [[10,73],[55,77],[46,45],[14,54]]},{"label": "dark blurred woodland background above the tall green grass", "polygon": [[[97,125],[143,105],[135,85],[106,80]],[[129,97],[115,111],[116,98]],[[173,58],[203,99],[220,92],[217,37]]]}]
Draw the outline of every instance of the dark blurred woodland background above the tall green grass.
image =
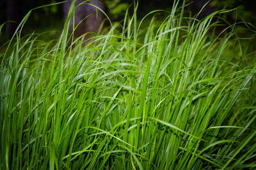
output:
[{"label": "dark blurred woodland background above the tall green grass", "polygon": [[[7,21],[14,21],[8,22],[3,26],[2,35],[0,39],[10,39],[13,36],[13,33],[16,30],[16,27],[23,19],[23,17],[33,8],[47,5],[50,3],[57,3],[63,2],[62,0],[2,0],[0,6],[0,25],[7,22]],[[68,6],[72,1],[69,0],[68,2],[61,3],[59,5],[48,6],[33,10],[30,17],[28,18],[25,27],[23,28],[23,34],[29,34],[32,32],[41,33],[45,31],[53,31],[51,36],[53,38],[57,38],[59,35],[59,31],[63,28],[63,23],[65,18],[67,18]],[[77,0],[77,3],[82,2],[81,0]],[[99,6],[110,16],[110,19],[115,21],[120,21],[124,18],[125,12],[127,8],[134,2],[133,0],[101,0],[98,3],[96,1],[90,1],[90,3],[94,3],[95,5]],[[142,18],[144,15],[148,14],[148,12],[153,10],[170,10],[172,7],[172,3],[174,1],[166,1],[166,0],[139,0],[139,7],[138,7],[138,19]],[[181,1],[180,3],[182,3]],[[206,0],[195,0],[187,1],[188,6],[186,6],[188,11],[191,11],[191,15],[196,15],[197,12],[200,11],[201,7],[208,1]],[[255,0],[212,0],[208,3],[205,10],[199,16],[199,19],[204,18],[204,16],[209,15],[213,11],[221,10],[222,8],[238,8],[237,14],[235,12],[229,13],[228,15],[222,16],[224,19],[228,20],[228,22],[232,23],[236,20],[236,15],[241,16],[237,22],[245,20],[246,22],[250,22],[252,25],[255,25],[255,18],[256,16],[256,1]],[[88,5],[85,7],[81,7],[81,9],[77,9],[76,14],[79,12],[84,12],[84,17],[93,12],[96,12],[93,6]],[[130,14],[133,14],[133,5],[130,7],[129,10]],[[79,14],[82,15],[82,14]],[[188,12],[189,15],[189,12]],[[91,20],[88,19],[87,23],[82,25],[82,28],[77,36],[81,35],[86,31],[95,31],[99,24],[92,25],[92,22],[95,23],[95,18],[92,16]],[[161,17],[161,16],[160,16]],[[77,17],[77,19],[80,19]],[[100,23],[101,20],[104,19],[104,15],[100,14],[100,17],[97,18],[97,23]],[[76,21],[75,21],[76,22]],[[75,23],[76,24],[76,23]],[[91,27],[91,28],[89,28]],[[93,28],[94,27],[94,28]]]}]

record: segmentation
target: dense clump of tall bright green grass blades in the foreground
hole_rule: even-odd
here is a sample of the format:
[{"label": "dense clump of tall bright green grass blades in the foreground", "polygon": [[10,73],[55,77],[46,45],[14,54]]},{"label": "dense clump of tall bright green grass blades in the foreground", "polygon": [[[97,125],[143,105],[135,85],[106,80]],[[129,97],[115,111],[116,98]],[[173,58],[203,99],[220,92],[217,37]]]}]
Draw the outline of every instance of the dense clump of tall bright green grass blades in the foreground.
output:
[{"label": "dense clump of tall bright green grass blades in the foreground", "polygon": [[30,11],[2,47],[0,169],[254,169],[255,28],[214,36],[235,11],[184,6],[142,28],[135,3],[87,40],[68,40],[72,7],[60,40],[22,37]]}]

